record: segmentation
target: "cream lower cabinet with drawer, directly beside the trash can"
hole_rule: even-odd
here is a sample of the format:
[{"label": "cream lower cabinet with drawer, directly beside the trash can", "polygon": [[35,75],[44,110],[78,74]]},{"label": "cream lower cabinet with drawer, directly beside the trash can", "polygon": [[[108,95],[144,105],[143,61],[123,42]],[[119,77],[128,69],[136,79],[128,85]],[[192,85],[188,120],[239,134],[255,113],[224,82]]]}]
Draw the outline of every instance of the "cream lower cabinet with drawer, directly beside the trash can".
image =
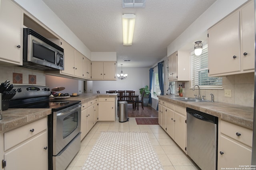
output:
[{"label": "cream lower cabinet with drawer, directly beside the trash can", "polygon": [[98,121],[116,120],[116,99],[115,97],[100,97],[98,105]]}]

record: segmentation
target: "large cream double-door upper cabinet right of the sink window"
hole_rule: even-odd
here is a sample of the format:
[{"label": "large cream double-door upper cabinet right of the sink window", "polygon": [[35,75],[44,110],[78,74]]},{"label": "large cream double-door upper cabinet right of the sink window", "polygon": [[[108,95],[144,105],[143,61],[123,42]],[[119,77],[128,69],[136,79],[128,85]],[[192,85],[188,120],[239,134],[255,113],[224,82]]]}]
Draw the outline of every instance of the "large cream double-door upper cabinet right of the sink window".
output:
[{"label": "large cream double-door upper cabinet right of the sink window", "polygon": [[208,30],[210,76],[254,72],[254,4],[245,4]]}]

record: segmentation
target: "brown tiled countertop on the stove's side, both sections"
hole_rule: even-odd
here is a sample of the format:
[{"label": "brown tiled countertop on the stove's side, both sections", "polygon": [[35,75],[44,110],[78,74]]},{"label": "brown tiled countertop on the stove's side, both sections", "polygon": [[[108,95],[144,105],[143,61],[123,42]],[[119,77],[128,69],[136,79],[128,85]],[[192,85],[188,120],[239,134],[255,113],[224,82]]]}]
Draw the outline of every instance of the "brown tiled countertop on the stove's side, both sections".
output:
[{"label": "brown tiled countertop on the stove's side, both sections", "polygon": [[[117,94],[80,94],[79,96],[66,98],[64,100],[80,100],[88,102],[98,97],[115,97]],[[51,109],[12,109],[2,112],[0,120],[0,132],[10,131],[17,127],[36,121],[52,113]]]}]

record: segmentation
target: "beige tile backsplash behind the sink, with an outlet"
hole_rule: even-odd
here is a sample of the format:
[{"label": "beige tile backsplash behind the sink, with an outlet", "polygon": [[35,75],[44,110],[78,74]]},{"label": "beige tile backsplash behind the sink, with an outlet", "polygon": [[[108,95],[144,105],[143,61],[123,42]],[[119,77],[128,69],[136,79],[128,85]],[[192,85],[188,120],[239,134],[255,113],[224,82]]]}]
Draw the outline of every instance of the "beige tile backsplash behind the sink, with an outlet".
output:
[{"label": "beige tile backsplash behind the sink, with an outlet", "polygon": [[[182,84],[182,82],[178,82]],[[194,94],[198,94],[198,89],[195,91],[191,88],[191,82],[185,82],[184,96],[194,98]],[[224,96],[224,90],[231,90],[231,97]],[[222,77],[222,89],[200,89],[201,96],[206,96],[206,100],[211,100],[210,94],[214,94],[215,102],[225,102],[237,104],[241,106],[254,106],[254,73],[237,74]]]}]

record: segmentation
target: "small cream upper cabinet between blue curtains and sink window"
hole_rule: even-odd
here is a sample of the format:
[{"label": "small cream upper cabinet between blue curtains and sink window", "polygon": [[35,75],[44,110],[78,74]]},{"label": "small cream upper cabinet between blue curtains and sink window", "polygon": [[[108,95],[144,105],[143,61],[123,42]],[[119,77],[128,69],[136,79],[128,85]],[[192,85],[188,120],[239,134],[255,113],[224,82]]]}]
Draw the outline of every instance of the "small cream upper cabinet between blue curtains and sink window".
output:
[{"label": "small cream upper cabinet between blue curtains and sink window", "polygon": [[176,51],[168,57],[169,81],[190,80],[190,54],[185,51]]}]

